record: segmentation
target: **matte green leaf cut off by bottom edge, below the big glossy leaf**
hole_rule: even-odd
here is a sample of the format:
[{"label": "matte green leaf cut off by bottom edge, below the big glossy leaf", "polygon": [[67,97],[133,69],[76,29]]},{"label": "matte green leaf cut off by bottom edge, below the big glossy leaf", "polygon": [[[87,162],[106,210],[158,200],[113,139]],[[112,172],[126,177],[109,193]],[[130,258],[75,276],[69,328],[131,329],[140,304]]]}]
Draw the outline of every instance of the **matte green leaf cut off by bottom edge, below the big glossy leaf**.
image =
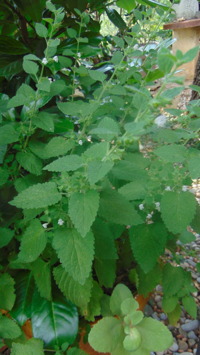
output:
[{"label": "matte green leaf cut off by bottom edge, below the big glossy leaf", "polygon": [[31,338],[26,344],[12,343],[11,355],[44,355],[41,339]]}]

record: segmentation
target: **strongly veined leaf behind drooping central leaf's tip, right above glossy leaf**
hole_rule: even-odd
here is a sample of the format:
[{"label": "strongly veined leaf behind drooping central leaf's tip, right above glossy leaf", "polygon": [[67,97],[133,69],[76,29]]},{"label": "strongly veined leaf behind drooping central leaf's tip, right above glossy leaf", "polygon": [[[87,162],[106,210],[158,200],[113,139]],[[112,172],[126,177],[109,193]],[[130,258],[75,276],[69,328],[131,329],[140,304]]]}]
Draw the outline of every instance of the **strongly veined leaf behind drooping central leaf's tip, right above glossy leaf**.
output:
[{"label": "strongly veined leaf behind drooping central leaf's tip, right above glossy leaf", "polygon": [[92,288],[92,278],[89,276],[84,285],[80,285],[70,276],[62,265],[53,269],[54,279],[64,296],[77,307],[86,307],[90,297]]}]

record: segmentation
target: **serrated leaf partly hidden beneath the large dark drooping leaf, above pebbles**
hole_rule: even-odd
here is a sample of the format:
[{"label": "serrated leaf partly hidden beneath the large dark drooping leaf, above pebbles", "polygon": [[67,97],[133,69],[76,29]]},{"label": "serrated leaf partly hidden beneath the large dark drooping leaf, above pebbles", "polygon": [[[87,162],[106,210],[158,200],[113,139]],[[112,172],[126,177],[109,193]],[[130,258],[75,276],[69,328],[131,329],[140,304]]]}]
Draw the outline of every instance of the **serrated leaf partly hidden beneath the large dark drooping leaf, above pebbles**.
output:
[{"label": "serrated leaf partly hidden beneath the large dark drooping leaf, above pebbles", "polygon": [[144,273],[140,265],[136,267],[137,275],[138,275],[138,285],[137,291],[140,295],[144,297],[148,297],[149,292],[160,283],[162,279],[162,269],[160,264],[156,263],[149,272]]}]

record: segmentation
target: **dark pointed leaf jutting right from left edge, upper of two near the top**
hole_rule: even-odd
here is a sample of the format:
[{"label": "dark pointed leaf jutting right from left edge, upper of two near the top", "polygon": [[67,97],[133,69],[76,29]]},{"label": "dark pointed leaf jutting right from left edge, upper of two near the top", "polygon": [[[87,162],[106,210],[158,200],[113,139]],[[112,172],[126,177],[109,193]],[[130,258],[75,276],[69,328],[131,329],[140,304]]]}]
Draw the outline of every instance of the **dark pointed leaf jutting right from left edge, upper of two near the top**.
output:
[{"label": "dark pointed leaf jutting right from left edge, upper of two near the top", "polygon": [[0,36],[0,52],[5,54],[23,54],[30,50],[12,37]]}]

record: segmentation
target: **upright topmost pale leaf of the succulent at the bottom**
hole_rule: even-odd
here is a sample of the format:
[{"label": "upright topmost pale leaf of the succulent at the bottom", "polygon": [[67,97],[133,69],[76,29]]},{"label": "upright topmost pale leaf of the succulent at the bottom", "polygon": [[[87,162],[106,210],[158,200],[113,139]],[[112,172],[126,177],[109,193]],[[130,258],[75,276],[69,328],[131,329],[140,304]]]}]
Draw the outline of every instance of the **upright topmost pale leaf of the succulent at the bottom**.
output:
[{"label": "upright topmost pale leaf of the succulent at the bottom", "polygon": [[110,296],[110,310],[114,315],[121,316],[121,304],[124,300],[128,298],[133,298],[131,290],[123,285],[118,284],[114,290],[112,291],[112,295]]}]

